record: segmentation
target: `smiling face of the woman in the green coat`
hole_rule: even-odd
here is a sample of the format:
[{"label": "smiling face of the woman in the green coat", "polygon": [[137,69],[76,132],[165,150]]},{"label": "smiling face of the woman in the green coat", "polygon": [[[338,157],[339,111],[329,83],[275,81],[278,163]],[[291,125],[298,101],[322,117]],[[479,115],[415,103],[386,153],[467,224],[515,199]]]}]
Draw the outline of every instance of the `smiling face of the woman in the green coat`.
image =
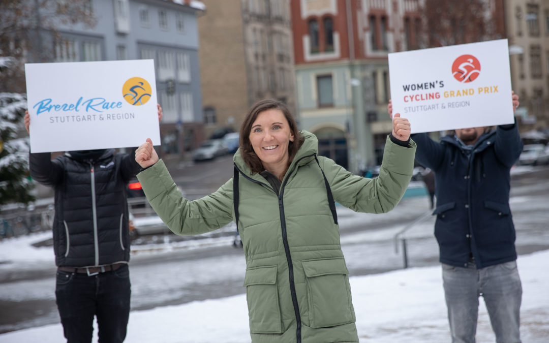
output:
[{"label": "smiling face of the woman in the green coat", "polygon": [[294,141],[290,125],[281,110],[268,109],[251,125],[250,143],[263,167],[278,178],[288,167],[288,144]]}]

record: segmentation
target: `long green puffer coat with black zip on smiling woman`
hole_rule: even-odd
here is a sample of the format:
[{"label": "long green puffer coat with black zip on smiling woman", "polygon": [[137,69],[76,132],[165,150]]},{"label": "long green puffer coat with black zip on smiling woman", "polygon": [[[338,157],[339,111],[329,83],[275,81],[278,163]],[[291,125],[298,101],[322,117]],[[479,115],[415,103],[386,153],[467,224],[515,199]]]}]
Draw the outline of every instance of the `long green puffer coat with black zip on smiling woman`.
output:
[{"label": "long green puffer coat with black zip on smiling woman", "polygon": [[[317,163],[318,140],[301,134],[305,142],[279,195],[264,177],[251,173],[239,151],[234,155],[251,341],[358,342],[349,271],[322,171],[337,203],[358,212],[388,212],[410,182],[416,145],[401,147],[388,138],[379,177],[369,179],[323,156]],[[209,232],[234,220],[233,179],[188,201],[161,160],[137,177],[153,209],[176,234]]]}]

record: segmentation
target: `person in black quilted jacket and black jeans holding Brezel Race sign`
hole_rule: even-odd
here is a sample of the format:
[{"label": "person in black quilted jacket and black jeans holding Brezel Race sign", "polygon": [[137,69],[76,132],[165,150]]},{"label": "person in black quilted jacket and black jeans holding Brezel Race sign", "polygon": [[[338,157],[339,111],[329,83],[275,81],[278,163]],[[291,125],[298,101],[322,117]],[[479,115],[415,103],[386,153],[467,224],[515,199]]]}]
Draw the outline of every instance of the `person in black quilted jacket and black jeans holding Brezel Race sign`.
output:
[{"label": "person in black quilted jacket and black jeans holding Brezel Race sign", "polygon": [[[29,126],[27,111],[27,132]],[[131,293],[126,188],[141,167],[132,155],[98,149],[54,160],[51,153],[30,154],[29,168],[55,190],[55,300],[67,342],[91,342],[94,317],[100,342],[124,341]]]}]

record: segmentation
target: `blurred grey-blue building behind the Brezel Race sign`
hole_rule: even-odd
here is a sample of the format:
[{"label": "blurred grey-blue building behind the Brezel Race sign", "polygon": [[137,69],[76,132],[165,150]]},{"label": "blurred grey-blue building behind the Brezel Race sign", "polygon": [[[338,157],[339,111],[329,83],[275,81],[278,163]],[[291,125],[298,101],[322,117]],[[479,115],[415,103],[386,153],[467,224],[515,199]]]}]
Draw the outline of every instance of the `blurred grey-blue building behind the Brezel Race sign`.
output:
[{"label": "blurred grey-blue building behind the Brezel Race sign", "polygon": [[[52,5],[62,12],[66,1]],[[96,25],[58,23],[55,34],[43,32],[41,49],[48,58],[55,62],[154,59],[156,94],[164,112],[161,151],[179,154],[194,148],[204,139],[197,25],[204,4],[90,0],[85,10]]]}]

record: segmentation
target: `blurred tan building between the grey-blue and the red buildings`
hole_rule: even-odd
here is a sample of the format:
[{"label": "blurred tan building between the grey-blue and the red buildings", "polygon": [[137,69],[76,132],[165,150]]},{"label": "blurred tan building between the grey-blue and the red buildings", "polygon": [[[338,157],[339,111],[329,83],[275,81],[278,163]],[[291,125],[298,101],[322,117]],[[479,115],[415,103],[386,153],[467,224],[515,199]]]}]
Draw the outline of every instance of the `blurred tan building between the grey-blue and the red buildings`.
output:
[{"label": "blurred tan building between the grey-blue and the red buildings", "polygon": [[205,0],[198,20],[206,136],[238,131],[255,102],[295,109],[289,0]]}]

